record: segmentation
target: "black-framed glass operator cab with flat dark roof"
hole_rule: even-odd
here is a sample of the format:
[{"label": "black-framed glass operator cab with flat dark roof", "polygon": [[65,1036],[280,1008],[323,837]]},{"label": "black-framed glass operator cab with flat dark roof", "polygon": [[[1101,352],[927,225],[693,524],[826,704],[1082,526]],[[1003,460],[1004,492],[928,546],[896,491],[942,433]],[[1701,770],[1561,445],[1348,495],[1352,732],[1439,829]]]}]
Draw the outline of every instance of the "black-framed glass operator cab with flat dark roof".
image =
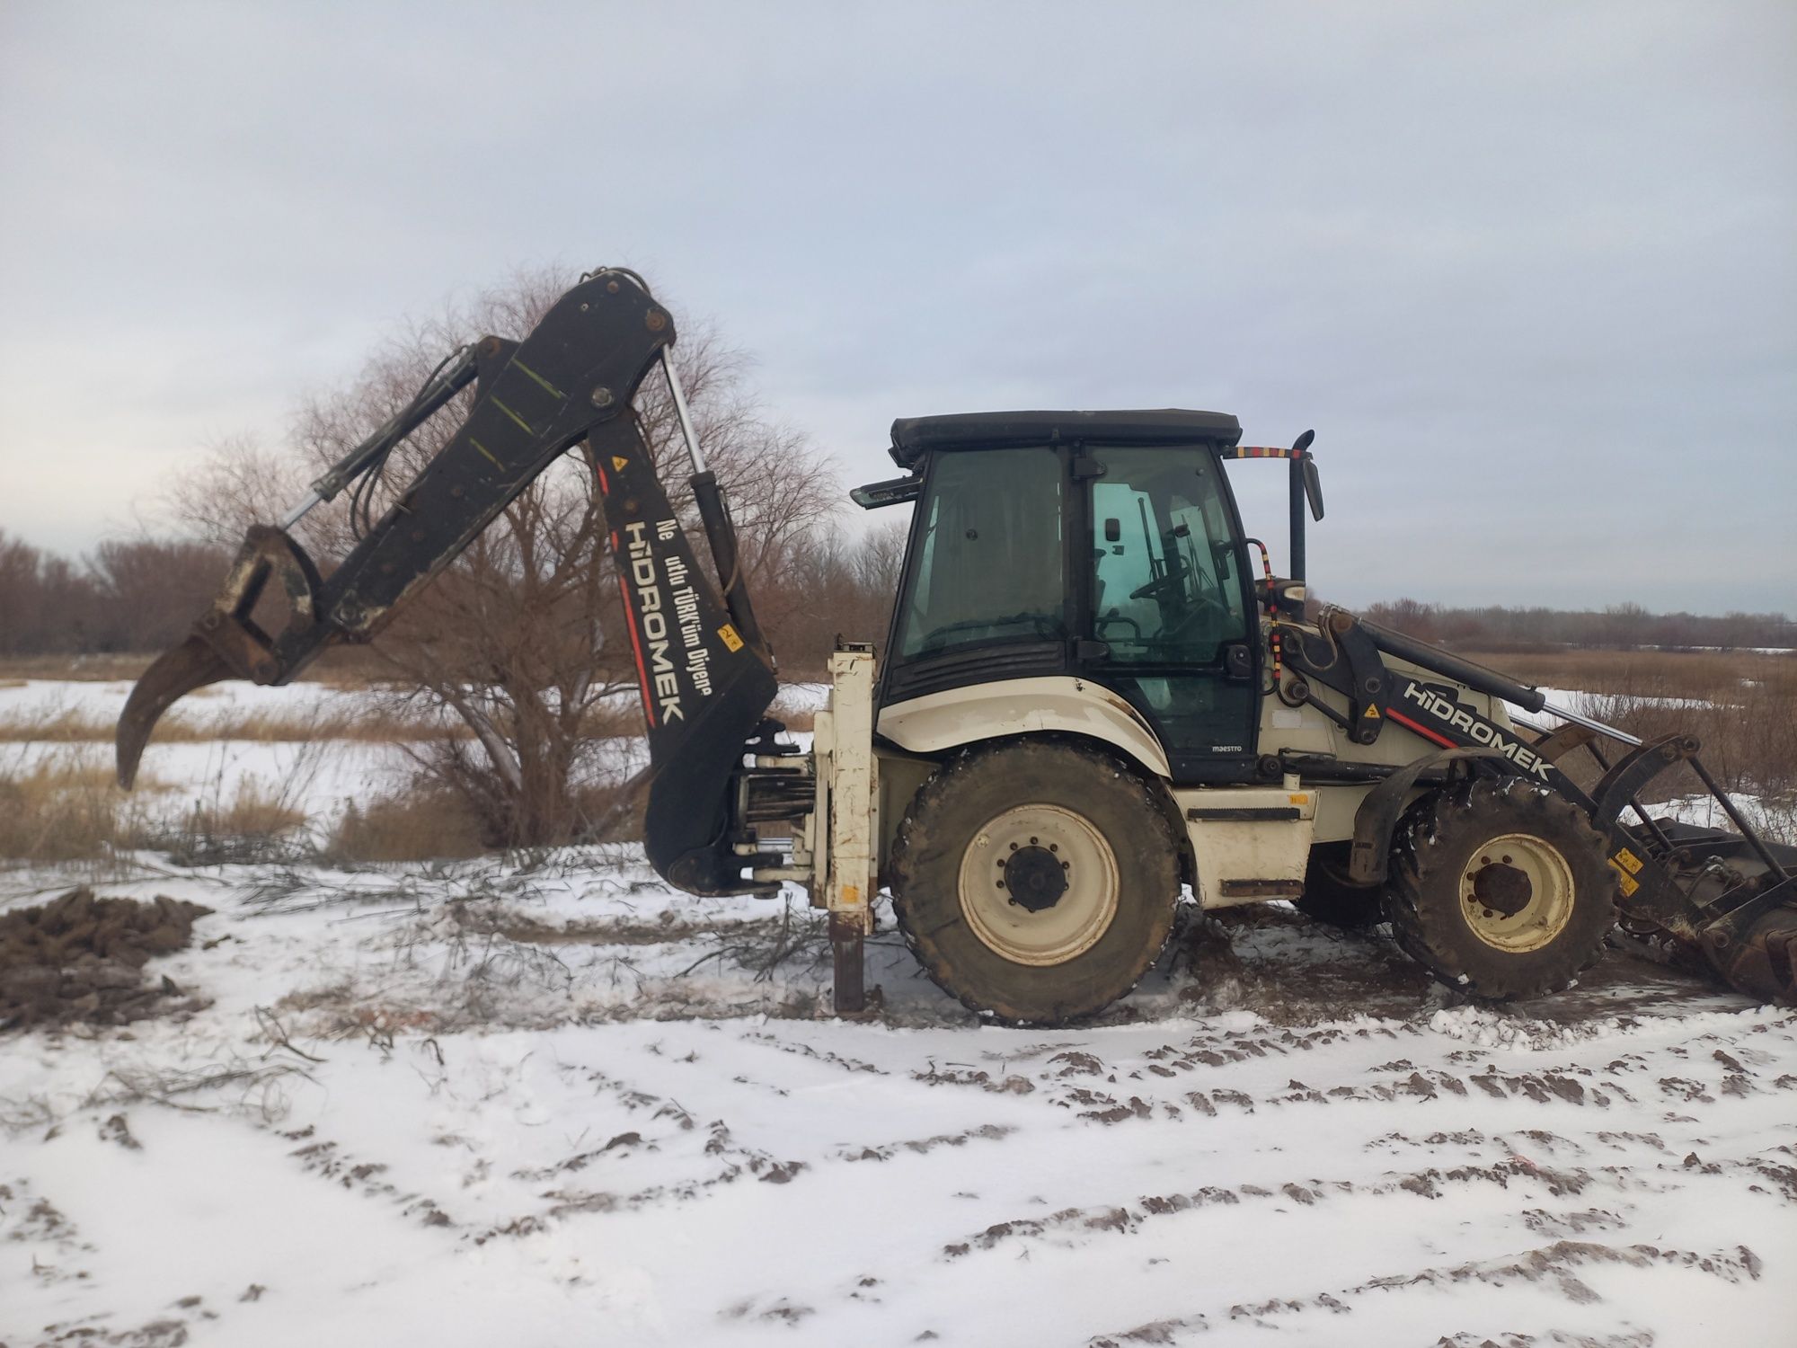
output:
[{"label": "black-framed glass operator cab with flat dark roof", "polygon": [[915,500],[879,705],[1075,676],[1155,732],[1175,782],[1254,760],[1260,616],[1215,412],[997,412],[893,422]]}]

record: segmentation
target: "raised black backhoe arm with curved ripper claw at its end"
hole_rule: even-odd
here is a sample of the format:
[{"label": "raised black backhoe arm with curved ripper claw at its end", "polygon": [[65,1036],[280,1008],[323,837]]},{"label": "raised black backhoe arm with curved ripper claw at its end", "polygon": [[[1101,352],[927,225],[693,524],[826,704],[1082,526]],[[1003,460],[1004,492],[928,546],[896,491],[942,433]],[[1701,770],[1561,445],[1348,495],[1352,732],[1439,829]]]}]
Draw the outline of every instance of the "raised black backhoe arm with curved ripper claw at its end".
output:
[{"label": "raised black backhoe arm with curved ripper claw at its end", "polygon": [[[367,642],[455,561],[559,455],[588,446],[649,724],[645,850],[670,882],[694,891],[740,881],[728,816],[733,767],[773,701],[773,656],[737,568],[730,514],[704,469],[685,395],[667,359],[674,320],[631,271],[588,273],[521,341],[489,336],[440,367],[392,421],[313,483],[282,528],[255,525],[192,634],[137,681],[117,726],[120,785],[129,787],[162,714],[221,679],[284,685],[323,649]],[[692,487],[719,588],[681,528],[633,401],[659,363],[694,455]],[[323,575],[286,532],[356,478],[377,473],[406,435],[474,385],[449,442],[343,561]],[[288,624],[252,622],[266,582],[280,579]]]}]

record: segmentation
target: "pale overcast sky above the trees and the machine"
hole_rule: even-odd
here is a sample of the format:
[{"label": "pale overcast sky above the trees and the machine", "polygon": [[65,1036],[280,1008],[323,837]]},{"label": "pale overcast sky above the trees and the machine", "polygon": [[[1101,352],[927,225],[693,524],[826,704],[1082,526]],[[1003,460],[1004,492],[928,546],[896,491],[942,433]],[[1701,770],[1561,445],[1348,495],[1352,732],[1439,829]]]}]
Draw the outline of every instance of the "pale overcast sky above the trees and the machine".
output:
[{"label": "pale overcast sky above the trees and the machine", "polygon": [[1209,408],[1317,430],[1330,599],[1797,613],[1790,0],[0,0],[0,528],[129,530],[543,262],[845,485],[897,415]]}]

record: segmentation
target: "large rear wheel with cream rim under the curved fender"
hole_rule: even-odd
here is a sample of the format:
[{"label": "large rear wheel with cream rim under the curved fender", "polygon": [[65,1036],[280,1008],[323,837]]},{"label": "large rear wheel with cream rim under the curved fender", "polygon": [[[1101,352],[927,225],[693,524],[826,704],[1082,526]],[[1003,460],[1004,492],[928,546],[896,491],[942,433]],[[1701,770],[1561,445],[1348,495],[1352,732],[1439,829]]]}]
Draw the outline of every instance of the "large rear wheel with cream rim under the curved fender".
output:
[{"label": "large rear wheel with cream rim under the curved fender", "polygon": [[1096,1015],[1166,945],[1179,859],[1166,812],[1094,748],[961,751],[918,789],[891,856],[893,911],[961,1005],[1017,1024]]}]

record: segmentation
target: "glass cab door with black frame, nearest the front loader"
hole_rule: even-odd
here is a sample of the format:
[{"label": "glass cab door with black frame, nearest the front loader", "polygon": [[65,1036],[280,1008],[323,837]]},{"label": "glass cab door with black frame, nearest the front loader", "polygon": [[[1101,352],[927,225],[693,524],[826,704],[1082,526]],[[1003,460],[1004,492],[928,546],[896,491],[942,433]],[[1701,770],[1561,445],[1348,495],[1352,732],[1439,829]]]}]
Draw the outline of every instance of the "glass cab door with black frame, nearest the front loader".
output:
[{"label": "glass cab door with black frame, nearest the front loader", "polygon": [[1155,726],[1175,782],[1242,780],[1254,762],[1260,643],[1222,467],[1202,446],[1093,446],[1087,457],[1082,674]]}]

